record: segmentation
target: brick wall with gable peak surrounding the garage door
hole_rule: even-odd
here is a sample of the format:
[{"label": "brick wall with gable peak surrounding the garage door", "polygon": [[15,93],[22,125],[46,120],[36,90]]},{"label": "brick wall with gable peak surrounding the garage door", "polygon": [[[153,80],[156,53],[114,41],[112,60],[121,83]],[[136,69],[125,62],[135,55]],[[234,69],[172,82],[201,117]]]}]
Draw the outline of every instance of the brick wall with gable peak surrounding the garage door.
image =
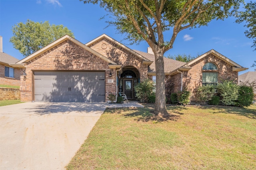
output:
[{"label": "brick wall with gable peak surrounding the garage door", "polygon": [[[26,80],[21,81],[20,86],[21,101],[34,99],[33,71],[105,71],[106,101],[109,93],[116,93],[115,69],[112,69],[112,77],[109,77],[108,62],[70,40],[66,40],[30,60],[25,70]],[[108,83],[108,79],[114,79],[114,83]]]}]

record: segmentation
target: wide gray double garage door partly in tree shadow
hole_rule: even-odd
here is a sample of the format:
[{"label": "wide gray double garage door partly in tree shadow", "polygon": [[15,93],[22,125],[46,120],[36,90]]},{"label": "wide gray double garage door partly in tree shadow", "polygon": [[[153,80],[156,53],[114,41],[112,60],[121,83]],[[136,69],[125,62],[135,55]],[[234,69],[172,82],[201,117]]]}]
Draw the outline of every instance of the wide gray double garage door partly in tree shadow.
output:
[{"label": "wide gray double garage door partly in tree shadow", "polygon": [[105,73],[35,71],[35,101],[105,102]]}]

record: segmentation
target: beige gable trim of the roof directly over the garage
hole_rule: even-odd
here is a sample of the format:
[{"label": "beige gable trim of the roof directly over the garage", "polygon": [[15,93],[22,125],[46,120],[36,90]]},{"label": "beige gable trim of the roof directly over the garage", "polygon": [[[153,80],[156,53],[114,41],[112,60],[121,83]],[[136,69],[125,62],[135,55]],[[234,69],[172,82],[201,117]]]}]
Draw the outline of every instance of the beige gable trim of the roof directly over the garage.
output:
[{"label": "beige gable trim of the roof directly over the garage", "polygon": [[76,45],[79,45],[80,47],[86,49],[87,51],[90,51],[91,53],[93,53],[94,55],[100,57],[101,59],[107,61],[108,63],[110,63],[111,65],[117,65],[117,63],[115,63],[114,61],[111,61],[110,59],[108,59],[107,57],[101,55],[100,53],[98,53],[97,51],[94,51],[93,49],[91,49],[90,47],[87,47],[86,45],[84,45],[83,43],[79,42],[78,40],[66,35],[63,36],[62,38],[50,43],[49,45],[47,45],[46,47],[43,47],[42,49],[36,51],[35,53],[29,55],[28,57],[25,57],[24,59],[18,61],[15,64],[11,64],[12,66],[16,66],[16,67],[24,67],[26,65],[26,63],[32,59],[34,59],[35,57],[37,57],[38,55],[48,51],[49,49],[51,49],[52,47],[66,41],[66,40],[70,40],[72,42],[74,42]]}]

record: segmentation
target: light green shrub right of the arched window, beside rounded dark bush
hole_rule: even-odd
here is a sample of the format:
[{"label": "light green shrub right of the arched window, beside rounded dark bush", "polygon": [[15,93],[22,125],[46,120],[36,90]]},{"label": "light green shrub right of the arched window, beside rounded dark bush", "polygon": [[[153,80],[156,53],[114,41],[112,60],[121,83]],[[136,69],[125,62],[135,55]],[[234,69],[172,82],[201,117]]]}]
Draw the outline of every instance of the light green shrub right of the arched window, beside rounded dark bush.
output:
[{"label": "light green shrub right of the arched window, beside rounded dark bush", "polygon": [[219,83],[217,85],[218,93],[222,97],[220,101],[224,105],[235,105],[238,99],[239,86],[232,81],[224,81],[224,83]]}]

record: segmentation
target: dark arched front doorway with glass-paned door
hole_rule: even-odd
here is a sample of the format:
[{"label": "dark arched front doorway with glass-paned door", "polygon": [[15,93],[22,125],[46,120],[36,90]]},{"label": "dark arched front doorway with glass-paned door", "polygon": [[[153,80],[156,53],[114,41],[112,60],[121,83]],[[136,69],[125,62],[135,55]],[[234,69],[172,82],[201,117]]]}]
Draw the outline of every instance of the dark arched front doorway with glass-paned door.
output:
[{"label": "dark arched front doorway with glass-paned door", "polygon": [[126,66],[122,69],[119,78],[119,92],[126,94],[127,99],[135,99],[134,86],[140,81],[140,72],[133,66]]}]

